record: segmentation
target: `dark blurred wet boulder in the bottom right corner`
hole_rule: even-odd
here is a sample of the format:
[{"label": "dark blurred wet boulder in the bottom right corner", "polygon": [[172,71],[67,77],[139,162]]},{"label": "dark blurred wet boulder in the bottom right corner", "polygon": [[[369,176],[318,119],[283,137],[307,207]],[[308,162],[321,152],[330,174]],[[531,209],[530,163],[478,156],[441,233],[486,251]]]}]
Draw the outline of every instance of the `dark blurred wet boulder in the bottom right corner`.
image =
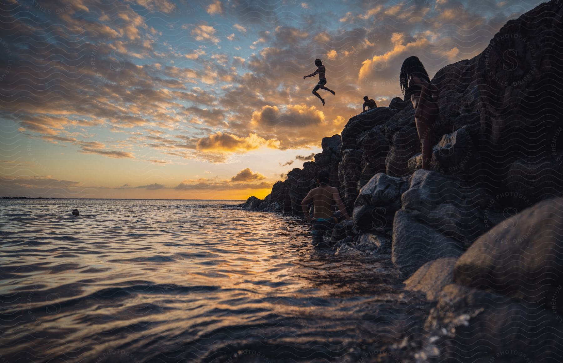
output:
[{"label": "dark blurred wet boulder in the bottom right corner", "polygon": [[556,363],[563,356],[563,324],[550,311],[456,284],[442,290],[425,330],[417,357],[429,363]]}]

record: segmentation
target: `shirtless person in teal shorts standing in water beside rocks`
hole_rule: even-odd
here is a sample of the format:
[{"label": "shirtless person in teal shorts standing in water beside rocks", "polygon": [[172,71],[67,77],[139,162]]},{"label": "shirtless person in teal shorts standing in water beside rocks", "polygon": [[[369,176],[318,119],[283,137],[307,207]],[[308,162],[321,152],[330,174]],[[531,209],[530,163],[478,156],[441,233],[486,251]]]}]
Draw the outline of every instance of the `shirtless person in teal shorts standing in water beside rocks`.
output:
[{"label": "shirtless person in teal shorts standing in water beside rocks", "polygon": [[[317,177],[317,182],[319,182],[320,186],[311,189],[301,202],[303,214],[305,214],[307,221],[312,222],[311,235],[314,245],[323,244],[324,235],[327,234],[327,231],[332,231],[334,224],[337,222],[337,218],[334,217],[335,204],[340,208],[344,217],[350,219],[338,189],[328,185],[330,182],[329,173],[321,171]],[[311,201],[314,208],[313,217],[311,217],[307,208]]]}]

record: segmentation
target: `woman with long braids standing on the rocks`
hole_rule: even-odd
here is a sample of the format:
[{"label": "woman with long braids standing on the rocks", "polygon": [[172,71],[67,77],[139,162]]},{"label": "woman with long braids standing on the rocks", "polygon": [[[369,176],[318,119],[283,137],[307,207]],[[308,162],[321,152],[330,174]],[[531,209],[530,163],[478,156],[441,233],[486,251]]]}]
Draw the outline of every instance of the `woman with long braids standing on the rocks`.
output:
[{"label": "woman with long braids standing on the rocks", "polygon": [[[426,69],[417,56],[405,59],[399,78],[405,98],[413,102],[414,121],[421,140],[422,169],[428,170],[432,159],[432,122],[438,114],[438,88],[432,84]],[[405,100],[406,101],[406,100]]]}]

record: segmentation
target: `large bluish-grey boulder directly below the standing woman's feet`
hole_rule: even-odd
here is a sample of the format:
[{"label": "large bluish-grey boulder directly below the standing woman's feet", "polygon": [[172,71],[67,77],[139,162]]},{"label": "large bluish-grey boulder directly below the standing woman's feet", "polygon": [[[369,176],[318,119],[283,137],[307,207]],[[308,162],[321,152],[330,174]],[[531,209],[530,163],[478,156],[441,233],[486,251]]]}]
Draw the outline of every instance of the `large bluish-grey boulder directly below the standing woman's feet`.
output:
[{"label": "large bluish-grey boulder directly below the standing woman's feet", "polygon": [[393,221],[395,265],[408,277],[428,261],[460,256],[485,231],[486,196],[457,178],[415,171]]}]

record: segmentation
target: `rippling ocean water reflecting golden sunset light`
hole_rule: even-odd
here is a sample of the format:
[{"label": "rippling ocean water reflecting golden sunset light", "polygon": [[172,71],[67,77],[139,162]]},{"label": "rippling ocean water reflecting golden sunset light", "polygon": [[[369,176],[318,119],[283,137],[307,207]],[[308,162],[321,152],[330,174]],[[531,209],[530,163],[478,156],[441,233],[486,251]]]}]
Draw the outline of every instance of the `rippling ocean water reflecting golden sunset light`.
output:
[{"label": "rippling ocean water reflecting golden sunset light", "polygon": [[401,361],[427,307],[388,256],[239,203],[0,200],[0,362]]}]

